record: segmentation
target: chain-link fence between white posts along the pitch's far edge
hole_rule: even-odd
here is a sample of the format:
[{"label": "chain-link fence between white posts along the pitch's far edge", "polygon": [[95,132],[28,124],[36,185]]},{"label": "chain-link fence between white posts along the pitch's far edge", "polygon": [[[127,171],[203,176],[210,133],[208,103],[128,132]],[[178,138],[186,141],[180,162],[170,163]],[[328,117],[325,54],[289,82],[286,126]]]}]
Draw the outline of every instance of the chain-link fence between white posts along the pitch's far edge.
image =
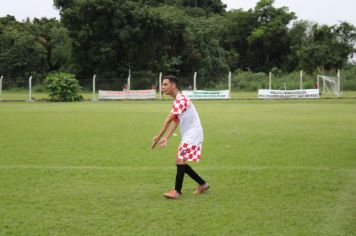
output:
[{"label": "chain-link fence between white posts along the pitch's far edge", "polygon": [[[163,74],[162,76],[167,75]],[[332,74],[329,74],[329,76]],[[229,88],[229,74],[204,75],[195,72],[176,74],[181,90],[227,90]],[[1,75],[0,75],[1,77]],[[128,78],[130,77],[130,80]],[[85,100],[93,99],[93,78],[77,77],[82,87],[81,94]],[[127,75],[117,75],[110,78],[95,76],[95,93],[98,90],[123,91],[130,87],[130,90],[156,89],[159,93],[160,73],[131,72]],[[270,82],[271,81],[271,82]],[[28,101],[28,100],[48,100],[49,94],[46,91],[44,79],[34,76],[31,84],[31,97],[29,78],[7,78],[0,80],[0,100],[1,101]],[[317,75],[303,74],[302,82],[300,72],[290,74],[252,73],[246,71],[235,72],[231,76],[231,90],[233,93],[250,92],[257,95],[258,89],[297,90],[313,89],[317,87]],[[321,86],[321,85],[320,85]],[[320,87],[320,89],[322,89]],[[356,91],[356,77],[353,73],[341,72],[341,90]],[[159,98],[159,96],[157,96]],[[257,98],[257,96],[256,96]]]}]

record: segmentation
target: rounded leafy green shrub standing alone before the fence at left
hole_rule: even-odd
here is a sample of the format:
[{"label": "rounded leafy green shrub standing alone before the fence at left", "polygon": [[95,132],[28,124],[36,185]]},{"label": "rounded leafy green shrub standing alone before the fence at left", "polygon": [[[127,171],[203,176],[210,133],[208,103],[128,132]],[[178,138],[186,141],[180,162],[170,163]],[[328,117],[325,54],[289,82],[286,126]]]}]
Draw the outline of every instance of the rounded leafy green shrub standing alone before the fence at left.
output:
[{"label": "rounded leafy green shrub standing alone before the fence at left", "polygon": [[46,77],[45,83],[51,101],[74,102],[83,100],[83,97],[79,95],[81,87],[72,74],[52,73]]}]

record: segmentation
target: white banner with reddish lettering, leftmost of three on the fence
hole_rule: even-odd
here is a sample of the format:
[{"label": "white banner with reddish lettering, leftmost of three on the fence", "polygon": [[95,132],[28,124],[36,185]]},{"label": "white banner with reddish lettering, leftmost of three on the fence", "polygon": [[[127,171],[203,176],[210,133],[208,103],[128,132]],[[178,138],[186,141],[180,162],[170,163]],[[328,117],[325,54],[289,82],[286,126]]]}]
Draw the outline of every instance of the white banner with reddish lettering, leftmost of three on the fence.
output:
[{"label": "white banner with reddish lettering, leftmost of three on the fence", "polygon": [[99,90],[99,99],[153,99],[156,98],[156,90],[125,90],[104,91]]}]

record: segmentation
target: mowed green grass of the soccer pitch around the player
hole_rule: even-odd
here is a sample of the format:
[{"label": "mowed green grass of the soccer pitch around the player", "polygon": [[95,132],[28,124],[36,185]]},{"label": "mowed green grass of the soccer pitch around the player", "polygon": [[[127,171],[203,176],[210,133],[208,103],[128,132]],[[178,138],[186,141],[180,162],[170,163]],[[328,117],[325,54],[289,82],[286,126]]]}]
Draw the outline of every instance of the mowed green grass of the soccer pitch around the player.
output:
[{"label": "mowed green grass of the soccer pitch around the player", "polygon": [[179,200],[170,101],[0,103],[0,235],[355,234],[356,100],[194,103],[211,189]]}]

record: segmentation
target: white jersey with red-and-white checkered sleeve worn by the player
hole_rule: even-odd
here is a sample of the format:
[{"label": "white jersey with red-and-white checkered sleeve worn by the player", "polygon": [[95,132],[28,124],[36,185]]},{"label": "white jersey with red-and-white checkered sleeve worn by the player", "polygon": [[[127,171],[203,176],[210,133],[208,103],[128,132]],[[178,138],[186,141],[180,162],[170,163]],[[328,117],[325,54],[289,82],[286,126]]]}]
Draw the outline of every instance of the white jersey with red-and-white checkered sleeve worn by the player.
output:
[{"label": "white jersey with red-and-white checkered sleeve worn by the player", "polygon": [[172,114],[178,115],[182,143],[200,144],[204,141],[203,128],[192,101],[178,93],[173,102]]}]

